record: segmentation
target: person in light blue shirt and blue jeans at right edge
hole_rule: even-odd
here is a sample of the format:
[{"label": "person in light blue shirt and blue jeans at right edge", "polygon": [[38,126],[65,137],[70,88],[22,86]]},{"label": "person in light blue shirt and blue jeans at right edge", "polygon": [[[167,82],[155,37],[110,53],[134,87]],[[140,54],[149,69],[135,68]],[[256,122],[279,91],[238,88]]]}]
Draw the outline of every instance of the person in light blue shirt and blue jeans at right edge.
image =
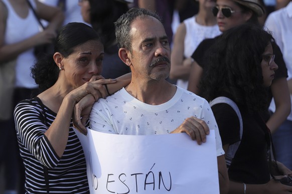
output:
[{"label": "person in light blue shirt and blue jeans at right edge", "polygon": [[[288,86],[292,88],[292,2],[285,8],[272,12],[265,22],[265,28],[271,31],[279,46],[288,70]],[[277,56],[276,56],[277,57]],[[292,101],[290,90],[290,99]],[[275,111],[275,103],[271,102],[269,109]],[[273,143],[277,160],[292,169],[292,112],[273,133]]]}]

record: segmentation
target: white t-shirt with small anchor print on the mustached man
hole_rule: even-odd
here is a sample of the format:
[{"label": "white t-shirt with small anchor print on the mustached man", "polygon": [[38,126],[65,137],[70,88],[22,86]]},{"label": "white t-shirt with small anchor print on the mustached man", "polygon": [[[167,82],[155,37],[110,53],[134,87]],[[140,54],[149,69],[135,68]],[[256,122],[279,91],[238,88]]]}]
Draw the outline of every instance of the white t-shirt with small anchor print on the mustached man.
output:
[{"label": "white t-shirt with small anchor print on the mustached man", "polygon": [[209,103],[180,87],[171,100],[161,105],[145,104],[123,88],[93,105],[90,127],[113,134],[159,135],[170,133],[191,116],[204,120],[210,130],[215,130],[217,156],[223,155],[221,137]]}]

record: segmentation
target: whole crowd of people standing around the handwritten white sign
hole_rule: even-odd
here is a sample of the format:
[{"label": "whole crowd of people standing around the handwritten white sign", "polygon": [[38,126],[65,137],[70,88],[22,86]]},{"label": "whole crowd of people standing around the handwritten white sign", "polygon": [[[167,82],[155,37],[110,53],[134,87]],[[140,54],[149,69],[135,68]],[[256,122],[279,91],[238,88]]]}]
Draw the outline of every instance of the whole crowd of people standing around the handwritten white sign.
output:
[{"label": "whole crowd of people standing around the handwritten white sign", "polygon": [[15,61],[5,194],[89,193],[74,127],[198,144],[215,129],[220,193],[292,192],[292,2],[199,0],[172,29],[190,2],[0,1],[0,65]]}]

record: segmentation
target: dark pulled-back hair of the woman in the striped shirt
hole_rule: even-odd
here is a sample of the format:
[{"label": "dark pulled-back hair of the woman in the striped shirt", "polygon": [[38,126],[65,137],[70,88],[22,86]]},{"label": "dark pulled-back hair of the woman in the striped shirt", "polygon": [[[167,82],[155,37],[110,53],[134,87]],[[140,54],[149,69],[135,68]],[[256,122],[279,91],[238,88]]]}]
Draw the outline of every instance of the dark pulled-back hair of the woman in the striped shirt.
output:
[{"label": "dark pulled-back hair of the woman in the striped shirt", "polygon": [[[74,48],[90,40],[99,41],[98,34],[90,26],[84,23],[69,23],[63,26],[54,43],[54,53],[60,52],[65,58],[73,53]],[[37,61],[32,68],[32,77],[39,85],[39,91],[43,92],[52,87],[58,77],[59,68],[56,65],[53,54],[46,55]]]}]

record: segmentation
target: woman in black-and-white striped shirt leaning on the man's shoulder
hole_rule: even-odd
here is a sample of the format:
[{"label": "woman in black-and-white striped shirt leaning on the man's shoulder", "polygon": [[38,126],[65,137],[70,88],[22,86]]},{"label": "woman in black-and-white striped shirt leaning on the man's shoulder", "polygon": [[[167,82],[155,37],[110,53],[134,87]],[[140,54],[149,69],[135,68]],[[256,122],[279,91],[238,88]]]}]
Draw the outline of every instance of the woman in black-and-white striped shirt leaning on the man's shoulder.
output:
[{"label": "woman in black-and-white striped shirt leaning on the man's shoulder", "polygon": [[14,113],[27,193],[89,193],[84,153],[73,130],[74,106],[86,95],[93,102],[105,98],[130,77],[103,79],[103,56],[91,27],[69,23],[57,37],[54,55],[32,69],[41,93],[21,101]]}]

